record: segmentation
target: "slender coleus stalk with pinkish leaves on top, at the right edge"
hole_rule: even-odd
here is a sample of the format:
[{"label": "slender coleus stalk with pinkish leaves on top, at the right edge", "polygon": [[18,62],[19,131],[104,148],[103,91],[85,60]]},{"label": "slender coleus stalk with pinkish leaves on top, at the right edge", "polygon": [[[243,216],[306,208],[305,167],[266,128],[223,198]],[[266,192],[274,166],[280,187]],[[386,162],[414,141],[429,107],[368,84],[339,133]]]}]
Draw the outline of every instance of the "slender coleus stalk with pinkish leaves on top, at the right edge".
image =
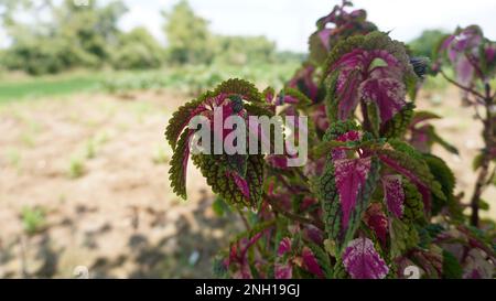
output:
[{"label": "slender coleus stalk with pinkish leaves on top, at the right edge", "polygon": [[[477,25],[471,25],[442,39],[435,54],[434,73],[462,90],[464,103],[483,125],[484,148],[474,158],[477,181],[470,204],[471,225],[477,227],[483,192],[496,179],[496,42],[484,37]],[[448,75],[443,65],[452,67],[456,77]]]}]

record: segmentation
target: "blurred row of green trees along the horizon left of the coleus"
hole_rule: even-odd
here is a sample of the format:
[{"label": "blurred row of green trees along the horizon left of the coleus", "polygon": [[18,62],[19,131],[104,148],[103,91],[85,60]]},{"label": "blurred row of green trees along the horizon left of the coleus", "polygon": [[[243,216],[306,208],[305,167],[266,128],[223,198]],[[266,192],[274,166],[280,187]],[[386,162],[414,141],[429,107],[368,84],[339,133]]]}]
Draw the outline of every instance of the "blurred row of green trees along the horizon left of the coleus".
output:
[{"label": "blurred row of green trees along the horizon left of the coleus", "polygon": [[147,69],[164,65],[238,64],[301,60],[278,52],[265,36],[228,36],[209,31],[208,21],[182,0],[162,11],[163,46],[145,28],[123,32],[122,1],[103,4],[73,0],[0,0],[0,21],[9,46],[0,50],[0,68],[32,75],[74,68]]}]

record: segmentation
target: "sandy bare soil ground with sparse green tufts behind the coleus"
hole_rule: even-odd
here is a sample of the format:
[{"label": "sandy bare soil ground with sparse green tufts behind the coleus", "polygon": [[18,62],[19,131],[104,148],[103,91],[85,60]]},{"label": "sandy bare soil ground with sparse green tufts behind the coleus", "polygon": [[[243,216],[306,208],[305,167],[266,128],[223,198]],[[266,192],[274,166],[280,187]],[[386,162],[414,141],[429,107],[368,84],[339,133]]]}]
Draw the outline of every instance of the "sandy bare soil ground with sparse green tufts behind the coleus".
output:
[{"label": "sandy bare soil ground with sparse green tufts behind the coleus", "polygon": [[[432,105],[439,97],[444,103]],[[459,98],[424,94],[419,106],[444,116],[435,125],[461,154],[435,152],[470,194],[481,127]],[[212,277],[213,256],[240,226],[215,216],[194,169],[187,202],[170,190],[163,131],[184,100],[79,95],[0,107],[0,278],[67,278],[78,266],[98,278]],[[495,190],[485,198],[495,201]],[[22,212],[36,207],[46,217],[30,234]]]}]

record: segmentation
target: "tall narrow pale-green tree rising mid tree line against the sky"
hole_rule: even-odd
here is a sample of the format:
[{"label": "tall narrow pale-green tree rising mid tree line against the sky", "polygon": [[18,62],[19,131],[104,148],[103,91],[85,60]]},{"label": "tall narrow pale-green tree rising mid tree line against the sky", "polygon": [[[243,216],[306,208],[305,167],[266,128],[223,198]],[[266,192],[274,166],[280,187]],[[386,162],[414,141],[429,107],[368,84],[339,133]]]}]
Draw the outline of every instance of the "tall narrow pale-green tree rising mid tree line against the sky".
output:
[{"label": "tall narrow pale-green tree rising mid tree line against the sky", "polygon": [[196,15],[182,0],[171,12],[162,12],[166,22],[168,57],[175,64],[209,64],[214,57],[214,39],[208,22]]}]

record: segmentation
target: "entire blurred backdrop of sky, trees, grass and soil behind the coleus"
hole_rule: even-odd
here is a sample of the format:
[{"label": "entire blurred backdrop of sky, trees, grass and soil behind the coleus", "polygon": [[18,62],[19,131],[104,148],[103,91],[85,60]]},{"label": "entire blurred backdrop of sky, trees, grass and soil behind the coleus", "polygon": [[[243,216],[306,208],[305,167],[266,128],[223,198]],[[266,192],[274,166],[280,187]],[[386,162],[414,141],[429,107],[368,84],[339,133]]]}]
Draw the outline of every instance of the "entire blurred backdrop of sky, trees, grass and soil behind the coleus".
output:
[{"label": "entire blurred backdrop of sky, trees, grass and soil behind the coleus", "polygon": [[[0,0],[0,278],[212,277],[242,223],[193,168],[188,201],[172,193],[168,120],[230,77],[281,88],[338,2]],[[457,25],[496,40],[493,0],[354,3],[417,55]],[[460,154],[434,153],[470,194],[483,146],[473,111],[438,77],[418,106],[443,116]]]}]

